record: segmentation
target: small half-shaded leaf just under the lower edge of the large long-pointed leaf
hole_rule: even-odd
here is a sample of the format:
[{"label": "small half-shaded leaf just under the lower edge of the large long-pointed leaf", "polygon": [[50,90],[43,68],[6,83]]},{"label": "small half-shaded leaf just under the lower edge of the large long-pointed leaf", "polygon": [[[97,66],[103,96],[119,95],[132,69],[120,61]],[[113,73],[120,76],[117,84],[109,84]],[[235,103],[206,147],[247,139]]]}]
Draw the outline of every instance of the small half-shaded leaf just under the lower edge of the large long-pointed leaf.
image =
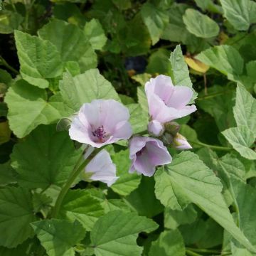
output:
[{"label": "small half-shaded leaf just under the lower edge of the large long-pointed leaf", "polygon": [[193,223],[196,217],[197,212],[192,204],[189,204],[183,210],[171,210],[171,208],[166,208],[164,210],[164,227],[176,229],[179,225]]}]

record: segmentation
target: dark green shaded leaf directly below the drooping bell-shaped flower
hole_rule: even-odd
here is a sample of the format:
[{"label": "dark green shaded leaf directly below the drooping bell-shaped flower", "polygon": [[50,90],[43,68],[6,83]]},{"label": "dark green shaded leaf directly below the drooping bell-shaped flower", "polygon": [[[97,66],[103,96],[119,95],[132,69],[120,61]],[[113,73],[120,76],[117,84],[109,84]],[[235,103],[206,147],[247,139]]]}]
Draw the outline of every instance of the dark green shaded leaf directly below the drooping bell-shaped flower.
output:
[{"label": "dark green shaded leaf directly below the drooping bell-shaped flower", "polygon": [[137,210],[140,216],[152,218],[164,210],[160,201],[156,199],[154,186],[155,182],[153,178],[142,176],[139,187],[132,191],[124,200],[129,203],[129,206]]}]

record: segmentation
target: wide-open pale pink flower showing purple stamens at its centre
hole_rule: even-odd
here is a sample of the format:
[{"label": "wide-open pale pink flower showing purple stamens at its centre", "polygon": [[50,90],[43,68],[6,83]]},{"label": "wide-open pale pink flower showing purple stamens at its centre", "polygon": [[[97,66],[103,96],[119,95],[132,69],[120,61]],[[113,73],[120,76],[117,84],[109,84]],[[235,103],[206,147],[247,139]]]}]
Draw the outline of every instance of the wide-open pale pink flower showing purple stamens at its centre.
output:
[{"label": "wide-open pale pink flower showing purple stamens at its centre", "polygon": [[132,136],[129,110],[115,100],[92,100],[73,119],[70,138],[93,147],[112,144]]}]

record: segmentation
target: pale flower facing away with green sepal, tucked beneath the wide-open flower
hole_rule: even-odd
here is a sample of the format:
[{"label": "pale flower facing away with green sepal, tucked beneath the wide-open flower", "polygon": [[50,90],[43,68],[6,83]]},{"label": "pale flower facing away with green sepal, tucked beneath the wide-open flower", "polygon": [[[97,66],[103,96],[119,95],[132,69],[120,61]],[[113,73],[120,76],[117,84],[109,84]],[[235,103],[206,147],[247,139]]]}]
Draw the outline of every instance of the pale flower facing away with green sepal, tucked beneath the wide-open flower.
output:
[{"label": "pale flower facing away with green sepal, tucked beneath the wide-open flower", "polygon": [[110,154],[102,149],[85,167],[85,173],[82,178],[85,181],[101,181],[111,186],[117,181],[116,166],[113,164]]}]

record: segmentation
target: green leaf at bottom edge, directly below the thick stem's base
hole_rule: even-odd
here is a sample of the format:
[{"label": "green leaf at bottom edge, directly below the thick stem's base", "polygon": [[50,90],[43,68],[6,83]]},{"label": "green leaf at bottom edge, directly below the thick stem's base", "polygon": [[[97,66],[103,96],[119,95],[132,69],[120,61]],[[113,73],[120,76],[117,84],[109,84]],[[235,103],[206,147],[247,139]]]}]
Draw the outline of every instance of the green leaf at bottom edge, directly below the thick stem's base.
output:
[{"label": "green leaf at bottom edge, directly below the thick stem's base", "polygon": [[75,256],[73,246],[85,238],[85,229],[78,221],[51,219],[31,225],[49,256]]}]

